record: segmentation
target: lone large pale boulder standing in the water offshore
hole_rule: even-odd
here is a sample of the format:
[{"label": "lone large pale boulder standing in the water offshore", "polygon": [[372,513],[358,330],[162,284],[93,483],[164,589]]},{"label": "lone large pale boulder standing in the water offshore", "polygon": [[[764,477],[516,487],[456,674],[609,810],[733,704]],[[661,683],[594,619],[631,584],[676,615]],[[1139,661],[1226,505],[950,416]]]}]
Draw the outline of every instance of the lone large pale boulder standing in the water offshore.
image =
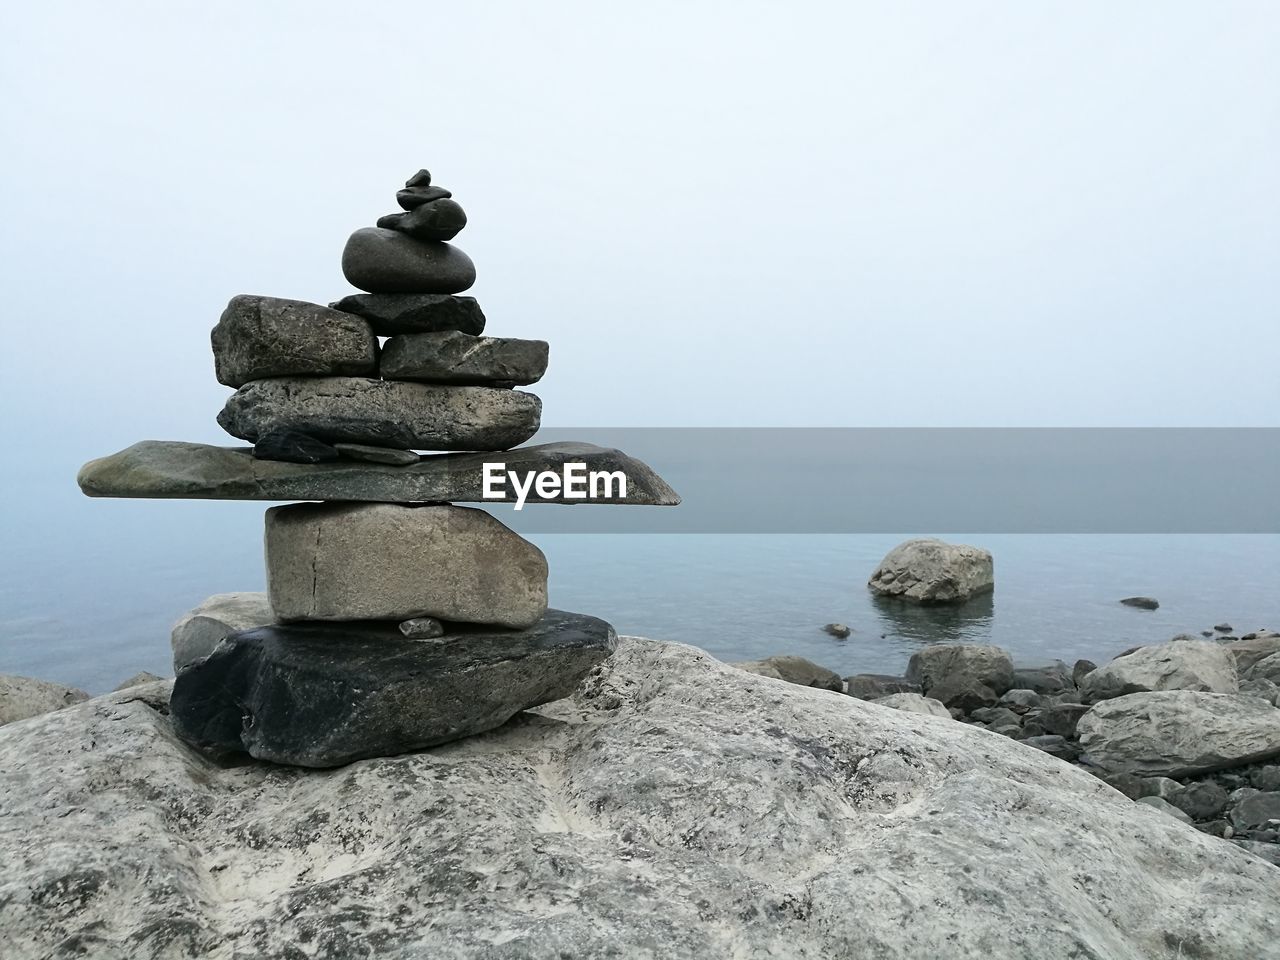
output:
[{"label": "lone large pale boulder standing in the water offshore", "polygon": [[961,603],[995,584],[987,550],[942,540],[899,544],[872,573],[868,586],[882,596],[920,603]]}]

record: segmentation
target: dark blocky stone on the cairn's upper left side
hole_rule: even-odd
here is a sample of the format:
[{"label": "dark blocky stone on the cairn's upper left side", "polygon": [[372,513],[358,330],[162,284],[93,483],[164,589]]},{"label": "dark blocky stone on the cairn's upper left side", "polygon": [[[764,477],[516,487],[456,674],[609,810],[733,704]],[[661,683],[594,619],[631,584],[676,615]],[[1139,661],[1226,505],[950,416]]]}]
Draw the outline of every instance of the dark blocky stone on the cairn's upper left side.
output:
[{"label": "dark blocky stone on the cairn's upper left side", "polygon": [[375,376],[378,338],[358,316],[278,297],[232,297],[211,335],[218,383]]}]

